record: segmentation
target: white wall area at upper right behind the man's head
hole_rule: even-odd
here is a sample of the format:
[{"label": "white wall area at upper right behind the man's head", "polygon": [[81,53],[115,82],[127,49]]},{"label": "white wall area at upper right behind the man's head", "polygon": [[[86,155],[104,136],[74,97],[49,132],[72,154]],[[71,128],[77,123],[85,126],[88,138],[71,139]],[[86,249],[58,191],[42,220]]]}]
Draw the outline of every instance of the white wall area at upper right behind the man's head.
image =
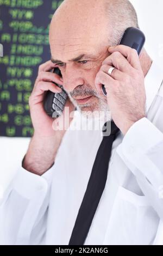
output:
[{"label": "white wall area at upper right behind the man's head", "polygon": [[139,19],[140,29],[146,35],[145,48],[160,66],[163,63],[163,1],[130,0]]}]

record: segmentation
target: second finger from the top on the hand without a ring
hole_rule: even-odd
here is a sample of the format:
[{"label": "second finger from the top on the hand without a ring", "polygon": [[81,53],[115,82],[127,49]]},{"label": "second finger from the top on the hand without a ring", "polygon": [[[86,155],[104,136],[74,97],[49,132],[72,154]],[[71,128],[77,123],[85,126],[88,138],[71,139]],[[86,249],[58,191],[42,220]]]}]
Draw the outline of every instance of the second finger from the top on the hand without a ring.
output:
[{"label": "second finger from the top on the hand without a ring", "polygon": [[39,81],[54,82],[58,83],[60,86],[63,83],[62,78],[59,75],[45,71],[41,71],[40,74],[37,76],[37,82]]}]

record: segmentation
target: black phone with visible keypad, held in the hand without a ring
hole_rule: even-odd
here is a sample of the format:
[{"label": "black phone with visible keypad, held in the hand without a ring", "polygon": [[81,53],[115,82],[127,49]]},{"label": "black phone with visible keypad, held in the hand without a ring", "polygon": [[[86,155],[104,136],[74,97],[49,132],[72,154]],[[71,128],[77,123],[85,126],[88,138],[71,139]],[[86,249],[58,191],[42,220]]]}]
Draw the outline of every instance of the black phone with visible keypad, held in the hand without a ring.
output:
[{"label": "black phone with visible keypad, held in the hand without a ring", "polygon": [[[55,68],[52,71],[55,74],[62,77],[59,68]],[[57,118],[61,115],[62,111],[64,110],[68,95],[67,95],[66,91],[64,90],[64,88],[62,86],[60,86],[60,84],[57,84],[57,83],[54,83],[54,84],[56,84],[58,87],[60,87],[62,89],[62,92],[61,93],[53,93],[50,90],[48,90],[46,93],[45,99],[44,99],[43,107],[45,109],[45,112],[49,116],[51,116],[53,118]]]}]

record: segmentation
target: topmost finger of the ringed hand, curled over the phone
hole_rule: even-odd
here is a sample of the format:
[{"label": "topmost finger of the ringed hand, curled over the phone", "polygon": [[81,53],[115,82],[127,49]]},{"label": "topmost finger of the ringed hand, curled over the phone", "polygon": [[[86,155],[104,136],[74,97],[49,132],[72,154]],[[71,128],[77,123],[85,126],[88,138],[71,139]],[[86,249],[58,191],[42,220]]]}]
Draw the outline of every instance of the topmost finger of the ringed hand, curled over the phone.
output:
[{"label": "topmost finger of the ringed hand, curled over the phone", "polygon": [[128,62],[134,69],[141,69],[139,55],[135,49],[126,45],[117,45],[113,48],[109,48],[108,51],[110,53],[120,52],[125,58],[127,58]]}]

